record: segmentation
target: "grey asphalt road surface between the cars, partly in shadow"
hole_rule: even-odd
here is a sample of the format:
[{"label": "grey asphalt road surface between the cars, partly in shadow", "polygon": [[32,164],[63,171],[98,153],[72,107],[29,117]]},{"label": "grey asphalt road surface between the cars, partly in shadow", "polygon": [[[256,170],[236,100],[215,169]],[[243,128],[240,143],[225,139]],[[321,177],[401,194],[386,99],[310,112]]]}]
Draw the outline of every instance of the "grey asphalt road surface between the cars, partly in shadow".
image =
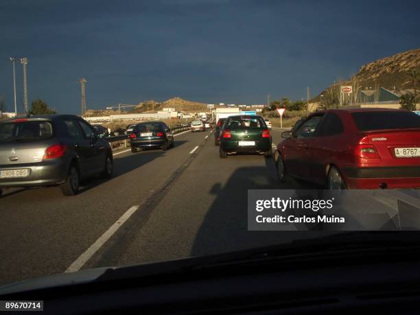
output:
[{"label": "grey asphalt road surface between the cars, partly in shadow", "polygon": [[[281,132],[272,130],[272,137],[278,143]],[[274,161],[262,155],[220,159],[212,131],[183,132],[175,140],[175,148],[166,152],[118,152],[113,178],[93,178],[74,197],[62,196],[58,187],[5,191],[0,198],[0,283],[223,253],[296,237],[247,231],[247,190],[305,184],[277,183]]]}]

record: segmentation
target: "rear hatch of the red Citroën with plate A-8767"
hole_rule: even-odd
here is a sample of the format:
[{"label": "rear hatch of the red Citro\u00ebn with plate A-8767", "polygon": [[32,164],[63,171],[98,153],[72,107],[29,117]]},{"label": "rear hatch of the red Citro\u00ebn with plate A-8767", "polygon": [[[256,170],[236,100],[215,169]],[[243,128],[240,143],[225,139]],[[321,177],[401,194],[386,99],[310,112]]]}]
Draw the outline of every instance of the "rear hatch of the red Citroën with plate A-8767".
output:
[{"label": "rear hatch of the red Citro\u00ebn with plate A-8767", "polygon": [[[383,166],[420,165],[420,117],[406,111],[353,113],[360,143]],[[376,152],[376,153],[375,153]],[[373,157],[373,156],[372,156]]]}]

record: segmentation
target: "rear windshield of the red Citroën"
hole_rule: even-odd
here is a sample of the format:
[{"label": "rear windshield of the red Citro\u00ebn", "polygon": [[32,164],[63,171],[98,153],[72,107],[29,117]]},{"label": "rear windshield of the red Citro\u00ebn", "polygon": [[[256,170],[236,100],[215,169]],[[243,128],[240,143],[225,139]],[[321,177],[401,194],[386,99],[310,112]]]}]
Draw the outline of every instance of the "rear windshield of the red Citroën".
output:
[{"label": "rear windshield of the red Citro\u00ebn", "polygon": [[351,116],[360,131],[420,128],[420,116],[411,112],[360,112]]}]

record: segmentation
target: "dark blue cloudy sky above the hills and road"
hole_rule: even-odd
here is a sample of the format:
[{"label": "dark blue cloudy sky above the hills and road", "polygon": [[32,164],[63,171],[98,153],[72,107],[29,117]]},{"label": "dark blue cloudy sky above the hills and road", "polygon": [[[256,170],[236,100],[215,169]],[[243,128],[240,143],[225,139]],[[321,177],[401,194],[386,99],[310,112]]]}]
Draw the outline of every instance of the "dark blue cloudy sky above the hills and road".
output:
[{"label": "dark blue cloudy sky above the hills and road", "polygon": [[[322,91],[366,62],[420,47],[420,2],[1,0],[0,95],[27,56],[29,100],[60,113],[179,96],[263,104]],[[21,65],[16,64],[22,108]]]}]

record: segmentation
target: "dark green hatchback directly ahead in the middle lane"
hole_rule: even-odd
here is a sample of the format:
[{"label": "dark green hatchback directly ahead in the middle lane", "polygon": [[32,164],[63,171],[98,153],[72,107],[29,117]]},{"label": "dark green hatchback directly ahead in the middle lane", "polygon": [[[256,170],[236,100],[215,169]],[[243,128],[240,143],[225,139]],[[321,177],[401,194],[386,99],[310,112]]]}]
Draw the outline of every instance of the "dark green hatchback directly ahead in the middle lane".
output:
[{"label": "dark green hatchback directly ahead in the middle lane", "polygon": [[266,158],[271,156],[270,130],[261,116],[230,116],[220,129],[220,158],[228,153],[257,152]]}]

